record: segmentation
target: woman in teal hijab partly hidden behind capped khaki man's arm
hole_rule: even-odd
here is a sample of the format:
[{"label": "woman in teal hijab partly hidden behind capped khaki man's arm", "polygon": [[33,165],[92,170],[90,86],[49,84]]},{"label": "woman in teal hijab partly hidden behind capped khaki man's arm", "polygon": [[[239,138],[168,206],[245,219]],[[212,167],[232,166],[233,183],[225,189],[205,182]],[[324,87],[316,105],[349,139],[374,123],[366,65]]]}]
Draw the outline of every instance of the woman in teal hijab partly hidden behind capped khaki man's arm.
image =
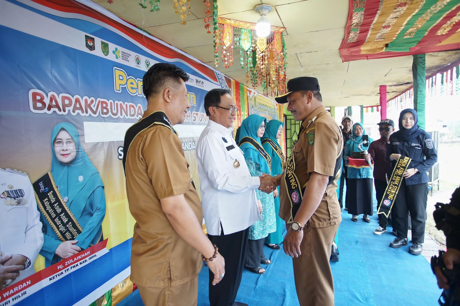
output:
[{"label": "woman in teal hijab partly hidden behind capped khaki man's arm", "polygon": [[[282,136],[283,125],[284,123],[281,121],[271,119],[267,123],[264,136],[262,137],[262,146],[271,158],[271,176],[277,176],[281,174],[283,172],[284,163],[286,161],[283,149],[278,143]],[[267,244],[270,249],[280,249],[278,244],[281,244],[283,241],[282,228],[284,221],[279,217],[279,193],[280,187],[278,186],[277,189],[273,192],[273,197],[275,198],[276,232],[268,234],[267,238],[265,238],[265,244]]]}]

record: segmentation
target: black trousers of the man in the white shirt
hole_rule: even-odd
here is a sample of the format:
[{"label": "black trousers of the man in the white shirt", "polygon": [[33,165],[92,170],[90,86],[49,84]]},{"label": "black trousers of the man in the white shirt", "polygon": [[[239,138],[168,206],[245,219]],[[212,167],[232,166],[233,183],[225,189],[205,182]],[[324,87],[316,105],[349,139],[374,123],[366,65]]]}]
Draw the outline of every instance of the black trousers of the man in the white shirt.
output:
[{"label": "black trousers of the man in the white shirt", "polygon": [[244,260],[247,256],[249,228],[244,231],[220,236],[207,235],[209,240],[219,248],[225,260],[225,276],[213,286],[214,274],[209,270],[209,303],[211,306],[231,306],[235,303],[240,288]]}]

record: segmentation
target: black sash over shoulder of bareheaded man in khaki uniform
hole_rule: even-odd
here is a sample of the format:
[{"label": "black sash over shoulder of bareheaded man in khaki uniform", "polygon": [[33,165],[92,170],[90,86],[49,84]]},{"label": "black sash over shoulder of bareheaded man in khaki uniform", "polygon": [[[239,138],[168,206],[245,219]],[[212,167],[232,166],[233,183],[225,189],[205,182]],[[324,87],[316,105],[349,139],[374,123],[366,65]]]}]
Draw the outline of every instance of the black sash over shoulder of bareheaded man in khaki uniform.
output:
[{"label": "black sash over shoulder of bareheaded man in khaki uniform", "polygon": [[176,130],[174,130],[173,125],[169,122],[167,115],[161,111],[157,111],[155,113],[151,113],[147,117],[140,119],[135,124],[131,125],[129,129],[126,131],[125,134],[125,143],[123,145],[123,170],[125,170],[126,174],[126,157],[129,152],[129,147],[131,147],[131,143],[134,141],[134,138],[139,135],[142,131],[150,128],[152,125],[164,125],[168,129],[172,130],[174,134],[178,135]]}]

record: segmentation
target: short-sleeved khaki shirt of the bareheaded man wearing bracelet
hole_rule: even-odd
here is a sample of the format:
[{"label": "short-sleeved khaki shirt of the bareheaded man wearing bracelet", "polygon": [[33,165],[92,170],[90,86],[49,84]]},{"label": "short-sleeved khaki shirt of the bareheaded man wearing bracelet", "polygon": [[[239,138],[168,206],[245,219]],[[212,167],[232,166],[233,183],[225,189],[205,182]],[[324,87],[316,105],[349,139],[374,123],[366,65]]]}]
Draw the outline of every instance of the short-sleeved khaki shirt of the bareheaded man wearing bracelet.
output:
[{"label": "short-sleeved khaki shirt of the bareheaded man wearing bracelet", "polygon": [[[144,113],[143,117],[150,115]],[[134,138],[126,159],[129,210],[136,220],[132,237],[131,280],[144,287],[179,286],[201,270],[201,255],[173,229],[160,199],[184,194],[201,224],[200,198],[191,184],[182,143],[172,130],[152,125]]]}]

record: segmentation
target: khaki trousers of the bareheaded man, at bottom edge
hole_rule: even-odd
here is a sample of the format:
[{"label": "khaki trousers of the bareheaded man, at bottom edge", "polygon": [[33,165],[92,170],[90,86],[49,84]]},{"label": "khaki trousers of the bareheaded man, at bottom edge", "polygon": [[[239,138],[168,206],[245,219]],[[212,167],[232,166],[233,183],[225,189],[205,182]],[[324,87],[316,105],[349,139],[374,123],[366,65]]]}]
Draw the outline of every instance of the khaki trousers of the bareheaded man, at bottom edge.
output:
[{"label": "khaki trousers of the bareheaded man, at bottom edge", "polygon": [[169,283],[163,288],[138,286],[138,289],[145,306],[196,306],[198,275],[177,287],[171,287]]}]

